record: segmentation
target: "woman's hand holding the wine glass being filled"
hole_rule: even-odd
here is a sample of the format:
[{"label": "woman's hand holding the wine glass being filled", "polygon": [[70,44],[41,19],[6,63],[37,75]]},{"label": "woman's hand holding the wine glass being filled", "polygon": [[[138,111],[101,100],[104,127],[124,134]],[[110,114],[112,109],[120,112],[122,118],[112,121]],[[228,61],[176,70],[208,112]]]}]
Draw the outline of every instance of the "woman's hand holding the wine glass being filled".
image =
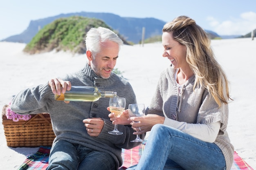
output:
[{"label": "woman's hand holding the wine glass being filled", "polygon": [[[109,107],[107,109],[108,109],[108,111],[110,111]],[[129,118],[128,110],[124,110],[120,116],[115,116],[114,113],[110,113],[108,115],[108,117],[110,117],[112,124],[115,124],[117,122],[117,124],[120,124],[120,125],[129,125],[131,122],[128,120],[128,118]]]}]

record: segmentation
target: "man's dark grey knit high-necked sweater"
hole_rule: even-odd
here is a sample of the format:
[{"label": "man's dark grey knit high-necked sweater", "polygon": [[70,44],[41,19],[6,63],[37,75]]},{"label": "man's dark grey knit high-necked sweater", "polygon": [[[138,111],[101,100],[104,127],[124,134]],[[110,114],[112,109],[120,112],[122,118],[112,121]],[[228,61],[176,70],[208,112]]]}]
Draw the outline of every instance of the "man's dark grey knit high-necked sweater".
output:
[{"label": "man's dark grey knit high-necked sweater", "polygon": [[[124,79],[112,73],[110,78],[97,76],[86,64],[82,70],[62,78],[70,81],[73,86],[97,86],[101,91],[115,91],[119,97],[126,98],[128,104],[136,103],[135,93],[131,85]],[[141,143],[130,142],[135,139],[131,126],[119,125],[118,130],[123,135],[110,135],[108,131],[114,129],[107,110],[109,98],[100,98],[96,102],[70,102],[54,100],[54,94],[48,84],[28,88],[18,93],[12,100],[11,110],[18,114],[49,113],[52,127],[57,140],[66,140],[73,144],[81,144],[94,150],[107,152],[116,161],[117,168],[122,165],[121,148],[130,149]],[[104,120],[104,127],[98,137],[87,134],[83,119],[100,117]],[[143,135],[144,137],[144,135]]]}]

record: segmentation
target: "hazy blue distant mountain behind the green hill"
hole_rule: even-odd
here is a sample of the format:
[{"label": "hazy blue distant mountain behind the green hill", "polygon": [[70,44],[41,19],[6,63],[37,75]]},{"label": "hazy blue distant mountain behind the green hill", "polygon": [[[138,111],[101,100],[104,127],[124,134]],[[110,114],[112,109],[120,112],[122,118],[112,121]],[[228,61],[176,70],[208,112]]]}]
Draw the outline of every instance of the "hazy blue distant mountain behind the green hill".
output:
[{"label": "hazy blue distant mountain behind the green hill", "polygon": [[[29,43],[32,38],[42,29],[45,25],[52,23],[59,18],[67,18],[70,16],[83,16],[88,18],[97,18],[103,20],[108,26],[117,31],[128,42],[135,44],[141,41],[142,28],[145,27],[145,39],[152,38],[157,35],[162,35],[162,28],[166,22],[155,18],[129,18],[120,17],[112,13],[67,13],[60,14],[49,18],[39,20],[31,20],[29,26],[21,34],[10,36],[2,41],[7,42],[22,42]],[[211,35],[211,38],[220,37],[217,33],[205,30]]]}]

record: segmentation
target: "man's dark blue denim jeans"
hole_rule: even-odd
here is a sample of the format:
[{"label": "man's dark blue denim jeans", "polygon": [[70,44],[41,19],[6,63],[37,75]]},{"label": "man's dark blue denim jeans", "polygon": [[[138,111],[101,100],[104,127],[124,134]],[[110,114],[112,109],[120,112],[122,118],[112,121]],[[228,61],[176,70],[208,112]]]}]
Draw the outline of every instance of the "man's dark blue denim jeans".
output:
[{"label": "man's dark blue denim jeans", "polygon": [[46,170],[116,170],[115,160],[106,152],[59,140],[51,149]]}]

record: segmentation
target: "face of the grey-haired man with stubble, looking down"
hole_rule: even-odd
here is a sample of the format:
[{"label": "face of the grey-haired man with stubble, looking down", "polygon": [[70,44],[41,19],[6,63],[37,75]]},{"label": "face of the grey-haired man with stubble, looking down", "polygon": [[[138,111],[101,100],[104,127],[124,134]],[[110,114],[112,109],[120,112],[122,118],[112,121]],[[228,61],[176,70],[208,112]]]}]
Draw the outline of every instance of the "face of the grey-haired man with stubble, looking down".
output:
[{"label": "face of the grey-haired man with stubble, looking down", "polygon": [[101,43],[101,51],[96,56],[87,56],[89,65],[97,75],[107,79],[116,65],[118,53],[119,45],[116,42],[103,42]]}]

